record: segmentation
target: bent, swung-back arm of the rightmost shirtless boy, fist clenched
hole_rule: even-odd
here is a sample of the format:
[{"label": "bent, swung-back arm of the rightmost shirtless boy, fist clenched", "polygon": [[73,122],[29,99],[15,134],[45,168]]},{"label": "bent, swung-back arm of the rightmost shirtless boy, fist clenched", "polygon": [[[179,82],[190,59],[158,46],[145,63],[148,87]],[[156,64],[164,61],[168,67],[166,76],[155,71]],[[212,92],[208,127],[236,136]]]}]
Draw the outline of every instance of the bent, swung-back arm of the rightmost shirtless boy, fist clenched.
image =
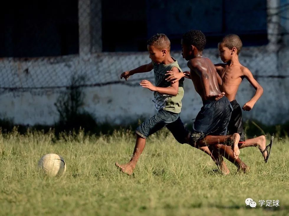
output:
[{"label": "bent, swung-back arm of the rightmost shirtless boy, fist clenched", "polygon": [[258,101],[258,99],[263,94],[263,88],[262,86],[254,79],[251,71],[248,68],[242,69],[244,77],[251,83],[251,85],[256,89],[255,95],[251,98],[250,101],[244,104],[243,110],[250,111],[255,103]]}]

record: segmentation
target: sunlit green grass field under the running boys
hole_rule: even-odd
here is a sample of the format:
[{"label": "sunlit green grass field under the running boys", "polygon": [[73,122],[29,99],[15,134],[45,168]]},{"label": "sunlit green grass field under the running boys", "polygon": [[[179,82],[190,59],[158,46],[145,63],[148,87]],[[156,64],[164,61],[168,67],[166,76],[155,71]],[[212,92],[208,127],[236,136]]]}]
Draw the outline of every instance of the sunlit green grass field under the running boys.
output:
[{"label": "sunlit green grass field under the running boys", "polygon": [[[275,138],[270,160],[257,148],[241,150],[247,174],[214,173],[200,150],[178,144],[166,130],[147,140],[133,176],[115,161],[127,162],[134,148],[131,131],[86,137],[40,132],[0,135],[0,215],[288,215],[289,140]],[[47,153],[67,163],[62,178],[37,170]],[[245,199],[257,202],[246,207]],[[260,207],[279,200],[280,207]]]}]

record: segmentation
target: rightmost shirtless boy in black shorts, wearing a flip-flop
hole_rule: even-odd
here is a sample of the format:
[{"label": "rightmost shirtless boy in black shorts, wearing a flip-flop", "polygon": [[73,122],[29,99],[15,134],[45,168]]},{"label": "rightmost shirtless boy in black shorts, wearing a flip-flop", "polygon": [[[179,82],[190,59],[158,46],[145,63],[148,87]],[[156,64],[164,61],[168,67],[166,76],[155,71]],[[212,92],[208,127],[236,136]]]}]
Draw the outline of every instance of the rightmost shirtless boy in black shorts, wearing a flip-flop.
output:
[{"label": "rightmost shirtless boy in black shorts, wearing a flip-flop", "polygon": [[243,110],[250,111],[254,107],[255,103],[263,93],[263,88],[254,79],[251,71],[249,71],[248,68],[242,66],[239,62],[239,53],[242,49],[242,41],[239,36],[236,34],[228,34],[224,36],[224,38],[222,38],[218,44],[218,49],[221,60],[224,62],[221,64],[215,64],[217,73],[222,79],[220,90],[225,92],[225,96],[229,99],[233,107],[228,125],[228,132],[239,133],[240,149],[250,146],[259,148],[264,157],[265,163],[267,163],[271,152],[273,137],[271,138],[270,144],[267,146],[265,136],[263,135],[245,140],[242,124],[242,110],[236,101],[238,88],[244,78],[249,81],[249,83],[255,88],[256,92],[254,96],[244,104],[242,107]]}]

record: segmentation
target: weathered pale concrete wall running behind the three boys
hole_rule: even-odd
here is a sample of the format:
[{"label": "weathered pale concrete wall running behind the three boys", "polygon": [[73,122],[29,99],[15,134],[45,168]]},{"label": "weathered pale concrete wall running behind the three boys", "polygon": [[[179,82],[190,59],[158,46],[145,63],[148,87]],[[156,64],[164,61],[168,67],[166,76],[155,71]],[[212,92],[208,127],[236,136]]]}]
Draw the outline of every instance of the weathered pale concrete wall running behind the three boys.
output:
[{"label": "weathered pale concrete wall running behind the three boys", "polygon": [[[173,52],[183,70],[188,70],[186,61],[179,52]],[[204,56],[214,63],[219,60],[217,49],[207,49]],[[266,124],[284,123],[289,120],[289,51],[268,51],[266,46],[244,47],[240,62],[247,66],[263,86],[264,94],[253,110],[243,112],[244,119],[254,118]],[[153,93],[139,86],[139,81],[154,81],[153,72],[135,74],[127,82],[120,80],[122,71],[150,62],[144,53],[98,53],[85,56],[59,58],[4,59],[0,62],[0,118],[11,118],[17,124],[52,125],[58,120],[54,106],[60,92],[69,86],[73,75],[86,77],[83,88],[86,97],[83,108],[92,113],[97,121],[121,124],[143,116],[153,115],[156,110],[152,102]],[[46,89],[29,89],[43,87]],[[6,91],[3,87],[22,87],[17,91]],[[28,89],[23,89],[28,87]],[[189,122],[201,108],[201,98],[193,83],[186,79],[185,96],[181,118]],[[19,92],[20,91],[20,92]],[[21,92],[24,91],[24,92]],[[254,95],[254,88],[244,80],[239,88],[237,100],[243,106]]]}]

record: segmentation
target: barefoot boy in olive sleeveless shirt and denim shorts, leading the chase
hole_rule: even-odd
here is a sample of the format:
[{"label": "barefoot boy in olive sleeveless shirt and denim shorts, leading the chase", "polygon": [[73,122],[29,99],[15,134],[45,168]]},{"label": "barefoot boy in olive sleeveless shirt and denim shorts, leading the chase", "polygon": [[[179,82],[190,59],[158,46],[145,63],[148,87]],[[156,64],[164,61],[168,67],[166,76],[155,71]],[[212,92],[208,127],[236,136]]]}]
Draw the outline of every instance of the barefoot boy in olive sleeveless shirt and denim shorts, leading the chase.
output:
[{"label": "barefoot boy in olive sleeveless shirt and denim shorts, leading the chase", "polygon": [[[115,165],[121,169],[122,172],[131,175],[135,165],[141,155],[146,139],[149,135],[157,132],[164,126],[176,121],[180,116],[182,107],[182,98],[184,96],[183,80],[176,83],[169,83],[165,80],[166,71],[182,72],[178,62],[170,56],[170,40],[165,34],[156,34],[147,42],[147,49],[150,53],[151,63],[142,65],[131,71],[125,71],[120,78],[129,78],[135,73],[149,72],[154,69],[155,86],[148,80],[142,80],[140,85],[143,88],[148,88],[154,91],[155,108],[158,113],[146,120],[136,129],[136,144],[134,152],[129,163],[120,165],[117,162]],[[170,129],[170,128],[169,128]],[[175,129],[175,128],[174,128]],[[174,130],[172,132],[175,138],[184,142],[187,137],[187,131]]]}]

